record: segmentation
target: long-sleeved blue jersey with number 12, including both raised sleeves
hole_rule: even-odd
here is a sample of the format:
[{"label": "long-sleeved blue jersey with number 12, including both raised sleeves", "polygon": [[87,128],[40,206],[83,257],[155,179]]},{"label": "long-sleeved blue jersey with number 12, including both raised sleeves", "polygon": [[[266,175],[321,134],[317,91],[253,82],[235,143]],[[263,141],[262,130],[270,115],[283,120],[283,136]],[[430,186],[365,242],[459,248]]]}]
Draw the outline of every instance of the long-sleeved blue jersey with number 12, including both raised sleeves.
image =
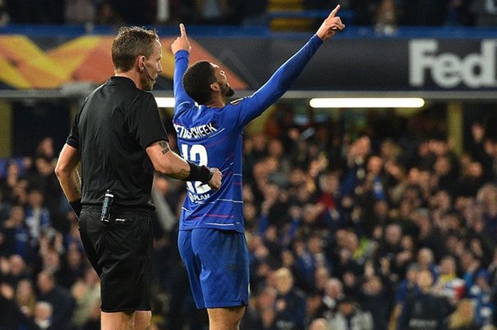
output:
[{"label": "long-sleeved blue jersey with number 12, including both raised sleeves", "polygon": [[180,50],[175,55],[173,124],[178,136],[178,149],[183,158],[197,165],[217,167],[222,172],[222,185],[214,191],[202,182],[187,182],[187,197],[182,207],[180,230],[214,228],[244,232],[241,194],[242,131],[283,95],[300,75],[322,40],[312,38],[257,92],[223,108],[197,106],[182,86],[189,54]]}]

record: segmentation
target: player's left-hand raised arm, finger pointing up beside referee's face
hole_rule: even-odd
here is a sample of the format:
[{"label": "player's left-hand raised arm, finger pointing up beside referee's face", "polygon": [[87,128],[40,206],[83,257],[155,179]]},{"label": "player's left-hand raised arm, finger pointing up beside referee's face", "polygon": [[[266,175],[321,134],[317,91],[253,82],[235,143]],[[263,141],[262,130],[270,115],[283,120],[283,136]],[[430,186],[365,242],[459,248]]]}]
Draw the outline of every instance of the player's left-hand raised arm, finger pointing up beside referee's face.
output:
[{"label": "player's left-hand raised arm, finger pointing up beside referee's face", "polygon": [[183,23],[180,23],[180,36],[171,44],[171,51],[173,52],[173,55],[175,55],[175,70],[173,78],[175,111],[178,109],[178,106],[184,102],[193,103],[193,100],[185,92],[182,84],[182,77],[188,68],[188,57],[190,56],[190,50],[192,50],[192,46],[190,46],[190,42],[188,41],[185,26]]}]

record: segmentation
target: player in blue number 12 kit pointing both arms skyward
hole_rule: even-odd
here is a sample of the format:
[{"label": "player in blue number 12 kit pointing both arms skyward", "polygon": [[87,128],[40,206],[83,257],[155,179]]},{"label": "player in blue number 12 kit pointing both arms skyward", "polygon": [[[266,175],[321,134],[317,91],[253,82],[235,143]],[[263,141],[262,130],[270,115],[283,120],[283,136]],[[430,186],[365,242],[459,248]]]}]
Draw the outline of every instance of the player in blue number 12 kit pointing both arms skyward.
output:
[{"label": "player in blue number 12 kit pointing both arms skyward", "polygon": [[183,158],[221,170],[214,191],[187,183],[178,246],[197,308],[207,308],[210,330],[235,330],[249,303],[249,258],[241,194],[242,131],[285,93],[324,40],[344,29],[337,6],[310,40],[250,97],[227,103],[234,90],[218,65],[188,67],[185,26],[171,45],[175,55],[173,125]]}]

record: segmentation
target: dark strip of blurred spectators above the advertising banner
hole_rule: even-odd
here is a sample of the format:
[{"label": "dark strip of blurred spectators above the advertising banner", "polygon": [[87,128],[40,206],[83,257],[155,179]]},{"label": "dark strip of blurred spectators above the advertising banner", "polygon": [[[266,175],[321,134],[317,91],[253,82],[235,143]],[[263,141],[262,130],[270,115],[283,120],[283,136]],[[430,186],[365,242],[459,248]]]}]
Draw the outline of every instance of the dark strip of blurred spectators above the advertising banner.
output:
[{"label": "dark strip of blurred spectators above the advertising banner", "polygon": [[[496,0],[343,0],[349,21],[391,33],[396,26],[496,26]],[[0,25],[194,24],[267,25],[274,10],[329,11],[326,0],[0,0]],[[322,18],[319,18],[321,21]]]}]

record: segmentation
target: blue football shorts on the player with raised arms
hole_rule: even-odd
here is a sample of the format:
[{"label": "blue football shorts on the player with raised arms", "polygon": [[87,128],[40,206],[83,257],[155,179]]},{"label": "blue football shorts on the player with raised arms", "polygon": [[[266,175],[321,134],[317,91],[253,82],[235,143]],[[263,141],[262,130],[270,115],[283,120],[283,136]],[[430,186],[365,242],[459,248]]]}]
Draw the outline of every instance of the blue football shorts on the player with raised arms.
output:
[{"label": "blue football shorts on the player with raised arms", "polygon": [[178,246],[198,309],[249,304],[249,254],[244,233],[180,231]]}]

